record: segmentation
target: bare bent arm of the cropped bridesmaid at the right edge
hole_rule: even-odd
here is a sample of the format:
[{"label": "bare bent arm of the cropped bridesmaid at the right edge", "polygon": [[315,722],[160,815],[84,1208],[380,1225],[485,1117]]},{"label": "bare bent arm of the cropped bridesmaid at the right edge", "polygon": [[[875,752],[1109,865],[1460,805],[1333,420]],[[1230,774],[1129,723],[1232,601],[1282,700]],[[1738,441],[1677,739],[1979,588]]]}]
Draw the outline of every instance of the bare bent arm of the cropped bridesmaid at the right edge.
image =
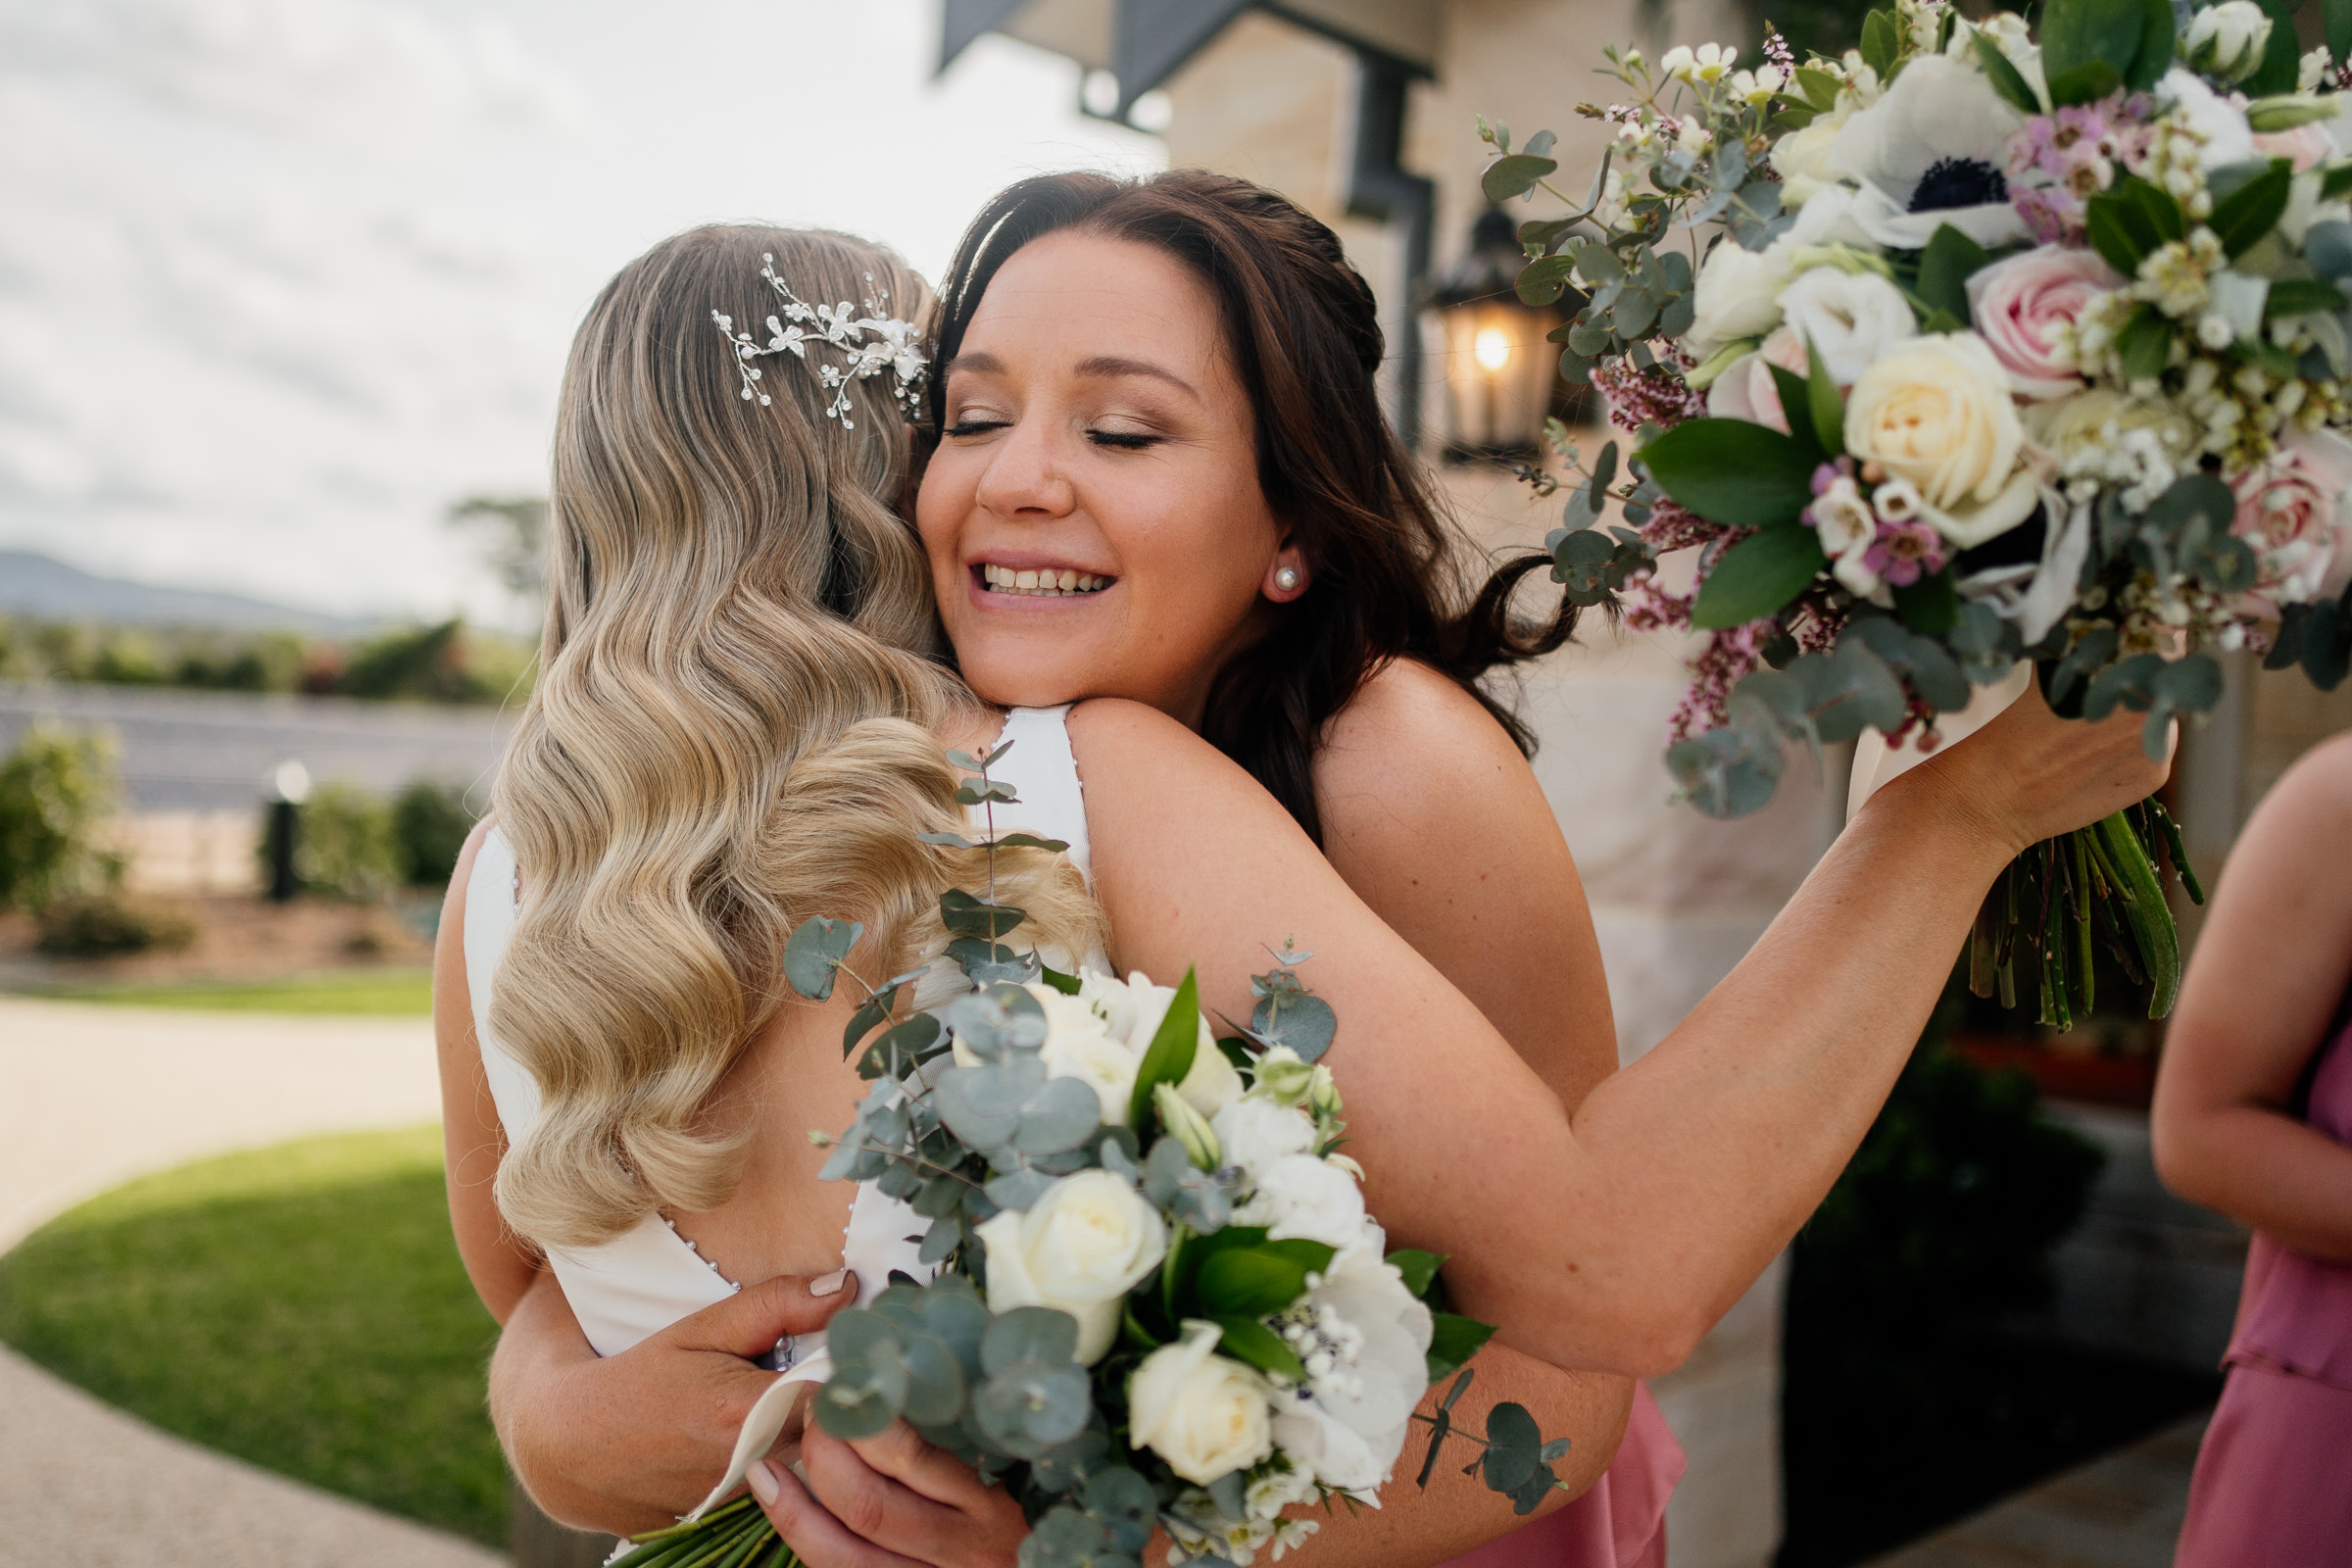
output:
[{"label": "bare bent arm of the cropped bridesmaid at the right edge", "polygon": [[2293,1117],[2352,985],[2352,736],[2317,748],[2230,851],[2164,1034],[2150,1128],[2180,1197],[2352,1265],[2352,1150]]}]

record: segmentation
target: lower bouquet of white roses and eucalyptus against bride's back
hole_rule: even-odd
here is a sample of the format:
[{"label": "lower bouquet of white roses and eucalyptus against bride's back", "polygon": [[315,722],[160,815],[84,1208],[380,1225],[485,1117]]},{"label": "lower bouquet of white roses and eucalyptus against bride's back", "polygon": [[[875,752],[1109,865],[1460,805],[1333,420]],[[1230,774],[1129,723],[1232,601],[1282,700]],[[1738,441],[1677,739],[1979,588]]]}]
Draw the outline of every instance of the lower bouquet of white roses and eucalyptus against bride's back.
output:
[{"label": "lower bouquet of white roses and eucalyptus against bride's back", "polygon": [[[971,804],[1011,804],[985,776],[1002,750],[950,757],[978,773]],[[1432,1427],[1423,1486],[1439,1443],[1468,1436],[1517,1512],[1543,1500],[1566,1441],[1526,1408],[1494,1406],[1484,1439],[1454,1429],[1463,1363],[1494,1331],[1442,1309],[1444,1258],[1385,1251],[1364,1213],[1317,1060],[1336,1018],[1296,971],[1312,954],[1275,954],[1249,1027],[1214,1039],[1190,973],[1063,976],[997,940],[1021,910],[950,891],[941,912],[971,987],[903,1023],[915,973],[868,994],[842,1048],[875,1086],[823,1168],[908,1201],[941,1272],[894,1274],[830,1321],[826,1432],[906,1418],[1009,1486],[1035,1523],[1023,1568],[1131,1568],[1155,1523],[1169,1563],[1279,1559],[1317,1530],[1284,1507],[1378,1505],[1414,1420]],[[788,983],[828,997],[856,938],[807,922]],[[1439,1413],[1416,1415],[1449,1375]],[[795,1561],[748,1500],[640,1542],[626,1563]]]}]

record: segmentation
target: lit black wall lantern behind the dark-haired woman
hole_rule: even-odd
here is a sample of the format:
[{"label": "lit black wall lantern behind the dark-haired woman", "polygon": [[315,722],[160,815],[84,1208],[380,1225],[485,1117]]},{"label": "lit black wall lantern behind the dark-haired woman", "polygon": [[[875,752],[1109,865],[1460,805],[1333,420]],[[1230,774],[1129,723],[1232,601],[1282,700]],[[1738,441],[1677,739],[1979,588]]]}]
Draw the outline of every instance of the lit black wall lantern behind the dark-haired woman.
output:
[{"label": "lit black wall lantern behind the dark-haired woman", "polygon": [[1526,266],[1510,214],[1489,207],[1470,228],[1470,249],[1437,280],[1430,315],[1444,334],[1446,444],[1456,463],[1526,458],[1543,447],[1543,421],[1592,421],[1592,388],[1559,378],[1559,343],[1545,341],[1583,308],[1519,301]]}]

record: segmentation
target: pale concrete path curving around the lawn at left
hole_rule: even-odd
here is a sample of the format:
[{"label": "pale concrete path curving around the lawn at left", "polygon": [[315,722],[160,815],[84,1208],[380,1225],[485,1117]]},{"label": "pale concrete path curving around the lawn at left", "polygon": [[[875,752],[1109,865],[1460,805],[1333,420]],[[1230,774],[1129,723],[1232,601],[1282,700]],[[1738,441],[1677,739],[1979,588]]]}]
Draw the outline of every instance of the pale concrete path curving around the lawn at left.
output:
[{"label": "pale concrete path curving around the lawn at left", "polygon": [[[421,1018],[0,997],[0,1251],[132,1175],[440,1117]],[[496,1568],[503,1556],[167,1436],[0,1349],[0,1568]]]}]

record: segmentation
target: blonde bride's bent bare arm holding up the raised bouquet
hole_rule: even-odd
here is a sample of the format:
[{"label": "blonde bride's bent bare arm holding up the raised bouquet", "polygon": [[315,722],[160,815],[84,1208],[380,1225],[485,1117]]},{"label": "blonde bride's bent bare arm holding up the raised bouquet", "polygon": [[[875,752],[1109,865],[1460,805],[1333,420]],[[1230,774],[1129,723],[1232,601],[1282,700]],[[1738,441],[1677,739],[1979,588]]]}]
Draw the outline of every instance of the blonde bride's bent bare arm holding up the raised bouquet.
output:
[{"label": "blonde bride's bent bare arm holding up the raised bouquet", "polygon": [[1164,715],[1087,703],[1096,889],[1120,964],[1247,1018],[1298,936],[1341,1016],[1331,1067],[1367,1201],[1454,1255],[1463,1309],[1555,1366],[1677,1366],[1820,1201],[1877,1114],[1992,877],[2164,776],[2136,719],[2027,696],[1863,809],[1748,959],[1578,1107],[1345,889],[1282,809]]}]

